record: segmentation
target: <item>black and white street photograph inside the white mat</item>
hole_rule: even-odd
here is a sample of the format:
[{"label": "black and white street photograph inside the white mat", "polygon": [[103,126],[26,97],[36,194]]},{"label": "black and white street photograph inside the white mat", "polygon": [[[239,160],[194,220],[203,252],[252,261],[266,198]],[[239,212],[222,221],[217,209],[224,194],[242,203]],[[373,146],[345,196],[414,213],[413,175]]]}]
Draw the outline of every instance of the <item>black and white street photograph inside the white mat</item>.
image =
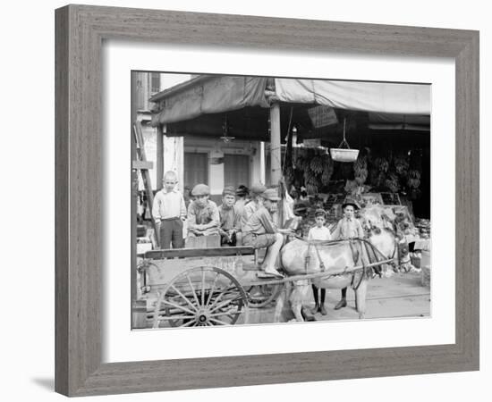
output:
[{"label": "black and white street photograph inside the white mat", "polygon": [[131,85],[132,328],[430,316],[430,84]]}]

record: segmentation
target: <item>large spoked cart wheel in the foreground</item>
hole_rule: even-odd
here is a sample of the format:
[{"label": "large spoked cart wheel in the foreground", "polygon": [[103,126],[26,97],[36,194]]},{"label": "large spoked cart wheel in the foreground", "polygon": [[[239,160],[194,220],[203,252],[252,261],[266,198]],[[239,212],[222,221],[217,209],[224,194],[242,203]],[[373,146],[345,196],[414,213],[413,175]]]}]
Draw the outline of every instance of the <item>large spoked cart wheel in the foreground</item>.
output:
[{"label": "large spoked cart wheel in the foreground", "polygon": [[174,277],[160,293],[153,327],[233,325],[246,305],[246,293],[230,273],[200,266]]}]

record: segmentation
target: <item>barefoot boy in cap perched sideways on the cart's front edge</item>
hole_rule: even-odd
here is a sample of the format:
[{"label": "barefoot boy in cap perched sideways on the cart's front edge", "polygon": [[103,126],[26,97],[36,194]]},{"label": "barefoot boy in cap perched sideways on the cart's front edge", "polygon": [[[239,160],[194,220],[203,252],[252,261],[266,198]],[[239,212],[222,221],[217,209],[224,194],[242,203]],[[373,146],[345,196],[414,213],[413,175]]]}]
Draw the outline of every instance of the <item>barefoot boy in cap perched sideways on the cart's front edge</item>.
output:
[{"label": "barefoot boy in cap perched sideways on the cart's front edge", "polygon": [[263,271],[270,277],[282,278],[282,274],[276,270],[275,264],[280,248],[284,243],[283,234],[292,233],[292,230],[277,229],[272,215],[276,213],[277,196],[275,188],[268,188],[260,197],[262,205],[250,216],[250,219],[242,227],[243,244],[254,248],[267,247],[267,255],[263,262]]}]

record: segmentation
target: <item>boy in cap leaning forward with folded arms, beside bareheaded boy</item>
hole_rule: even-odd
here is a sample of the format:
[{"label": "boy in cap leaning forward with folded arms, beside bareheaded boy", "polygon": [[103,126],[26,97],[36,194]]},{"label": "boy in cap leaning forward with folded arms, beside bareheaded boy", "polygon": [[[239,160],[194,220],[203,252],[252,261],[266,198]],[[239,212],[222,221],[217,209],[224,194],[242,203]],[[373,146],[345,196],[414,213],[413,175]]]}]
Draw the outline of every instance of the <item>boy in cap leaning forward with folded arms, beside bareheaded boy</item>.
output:
[{"label": "boy in cap leaning forward with folded arms, beside bareheaded boy", "polygon": [[220,216],[216,203],[208,199],[208,186],[197,184],[191,190],[191,196],[194,199],[188,206],[188,237],[218,234]]}]

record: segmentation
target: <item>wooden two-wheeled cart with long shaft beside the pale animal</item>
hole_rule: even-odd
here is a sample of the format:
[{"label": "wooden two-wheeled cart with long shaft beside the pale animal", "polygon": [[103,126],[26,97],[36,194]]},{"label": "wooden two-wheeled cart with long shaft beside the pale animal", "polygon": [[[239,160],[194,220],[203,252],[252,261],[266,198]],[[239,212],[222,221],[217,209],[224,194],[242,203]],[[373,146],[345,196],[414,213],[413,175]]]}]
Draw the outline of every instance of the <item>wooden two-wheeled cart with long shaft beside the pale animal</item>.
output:
[{"label": "wooden two-wheeled cart with long shaft beside the pale animal", "polygon": [[[315,247],[316,248],[316,247]],[[233,325],[249,309],[269,305],[286,283],[349,275],[391,259],[344,269],[308,271],[281,279],[260,279],[259,255],[252,247],[182,248],[148,251],[140,258],[140,300],[146,327]],[[359,275],[362,278],[362,273]]]}]

